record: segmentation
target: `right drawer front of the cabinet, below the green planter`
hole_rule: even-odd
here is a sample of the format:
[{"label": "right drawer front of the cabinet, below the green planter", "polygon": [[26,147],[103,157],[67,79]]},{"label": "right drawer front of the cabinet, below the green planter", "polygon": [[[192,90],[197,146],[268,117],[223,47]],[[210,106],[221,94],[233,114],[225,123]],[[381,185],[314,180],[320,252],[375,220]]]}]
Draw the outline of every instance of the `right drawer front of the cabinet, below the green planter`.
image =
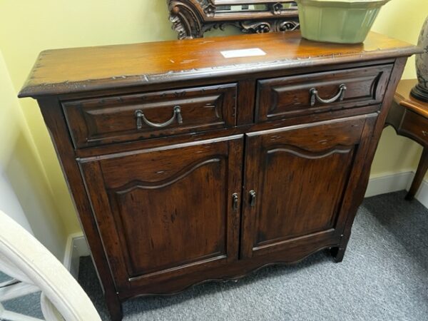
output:
[{"label": "right drawer front of the cabinet, below the green planter", "polygon": [[258,81],[256,121],[380,103],[392,65]]}]

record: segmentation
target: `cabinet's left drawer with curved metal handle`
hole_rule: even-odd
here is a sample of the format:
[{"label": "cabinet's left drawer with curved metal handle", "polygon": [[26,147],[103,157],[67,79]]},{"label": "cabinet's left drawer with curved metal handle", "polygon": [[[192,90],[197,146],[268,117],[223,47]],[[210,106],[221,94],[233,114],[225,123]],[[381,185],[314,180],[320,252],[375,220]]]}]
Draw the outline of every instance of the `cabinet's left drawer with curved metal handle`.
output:
[{"label": "cabinet's left drawer with curved metal handle", "polygon": [[235,126],[237,84],[63,103],[76,148]]}]

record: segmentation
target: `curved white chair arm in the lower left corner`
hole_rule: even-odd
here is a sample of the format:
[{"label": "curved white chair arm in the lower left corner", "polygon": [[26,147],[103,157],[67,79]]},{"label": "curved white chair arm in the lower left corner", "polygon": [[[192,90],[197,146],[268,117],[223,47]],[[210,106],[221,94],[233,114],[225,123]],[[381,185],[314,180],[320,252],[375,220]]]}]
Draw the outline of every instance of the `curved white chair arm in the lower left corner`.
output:
[{"label": "curved white chair arm in the lower left corner", "polygon": [[[44,294],[41,300],[46,302],[43,297],[46,296],[66,321],[101,321],[88,295],[68,270],[33,235],[1,210],[0,255],[6,258],[9,267],[16,266],[28,281],[39,287]],[[45,317],[61,320],[51,319],[52,315]]]}]

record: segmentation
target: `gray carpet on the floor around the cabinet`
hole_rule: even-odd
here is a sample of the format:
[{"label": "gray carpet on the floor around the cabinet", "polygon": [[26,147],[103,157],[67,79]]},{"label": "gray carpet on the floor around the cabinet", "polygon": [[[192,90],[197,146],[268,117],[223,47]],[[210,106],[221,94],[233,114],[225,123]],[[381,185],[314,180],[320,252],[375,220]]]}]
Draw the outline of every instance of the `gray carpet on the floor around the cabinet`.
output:
[{"label": "gray carpet on the floor around the cabinet", "polygon": [[[342,263],[317,253],[238,283],[138,298],[123,305],[123,320],[428,320],[428,210],[404,195],[364,201]],[[82,258],[80,269],[79,282],[109,320],[91,260]]]}]

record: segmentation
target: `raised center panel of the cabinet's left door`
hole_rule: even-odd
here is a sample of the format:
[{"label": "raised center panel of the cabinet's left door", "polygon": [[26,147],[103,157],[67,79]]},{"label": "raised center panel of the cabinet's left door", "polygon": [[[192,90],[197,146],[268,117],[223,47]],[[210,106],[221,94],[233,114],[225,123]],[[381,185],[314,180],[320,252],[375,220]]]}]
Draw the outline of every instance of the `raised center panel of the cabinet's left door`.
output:
[{"label": "raised center panel of the cabinet's left door", "polygon": [[130,277],[226,257],[226,169],[213,156],[155,184],[108,189]]}]

